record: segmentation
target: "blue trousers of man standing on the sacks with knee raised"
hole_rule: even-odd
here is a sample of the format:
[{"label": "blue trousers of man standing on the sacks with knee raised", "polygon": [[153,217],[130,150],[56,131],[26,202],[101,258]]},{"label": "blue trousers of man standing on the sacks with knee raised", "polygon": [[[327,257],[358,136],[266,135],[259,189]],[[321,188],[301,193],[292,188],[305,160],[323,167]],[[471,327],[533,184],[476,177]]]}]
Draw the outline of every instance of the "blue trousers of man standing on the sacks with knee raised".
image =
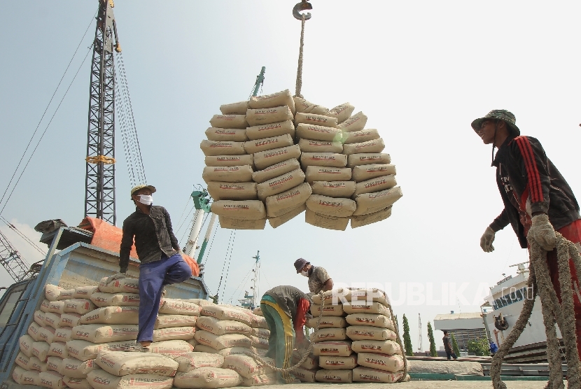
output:
[{"label": "blue trousers of man standing on the sacks with knee raised", "polygon": [[153,326],[160,311],[164,285],[181,283],[192,276],[192,269],[174,254],[169,258],[139,265],[139,333],[137,341],[153,341]]}]

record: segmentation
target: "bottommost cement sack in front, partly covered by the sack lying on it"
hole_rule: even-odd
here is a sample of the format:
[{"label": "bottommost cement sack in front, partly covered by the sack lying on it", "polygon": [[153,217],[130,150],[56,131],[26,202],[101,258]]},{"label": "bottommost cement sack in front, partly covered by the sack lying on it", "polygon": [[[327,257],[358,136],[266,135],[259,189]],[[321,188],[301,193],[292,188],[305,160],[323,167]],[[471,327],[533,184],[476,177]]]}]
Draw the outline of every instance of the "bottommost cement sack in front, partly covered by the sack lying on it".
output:
[{"label": "bottommost cement sack in front, partly covered by the sack lying on it", "polygon": [[157,374],[129,374],[118,377],[104,370],[93,370],[87,376],[93,389],[171,389],[172,377]]}]

